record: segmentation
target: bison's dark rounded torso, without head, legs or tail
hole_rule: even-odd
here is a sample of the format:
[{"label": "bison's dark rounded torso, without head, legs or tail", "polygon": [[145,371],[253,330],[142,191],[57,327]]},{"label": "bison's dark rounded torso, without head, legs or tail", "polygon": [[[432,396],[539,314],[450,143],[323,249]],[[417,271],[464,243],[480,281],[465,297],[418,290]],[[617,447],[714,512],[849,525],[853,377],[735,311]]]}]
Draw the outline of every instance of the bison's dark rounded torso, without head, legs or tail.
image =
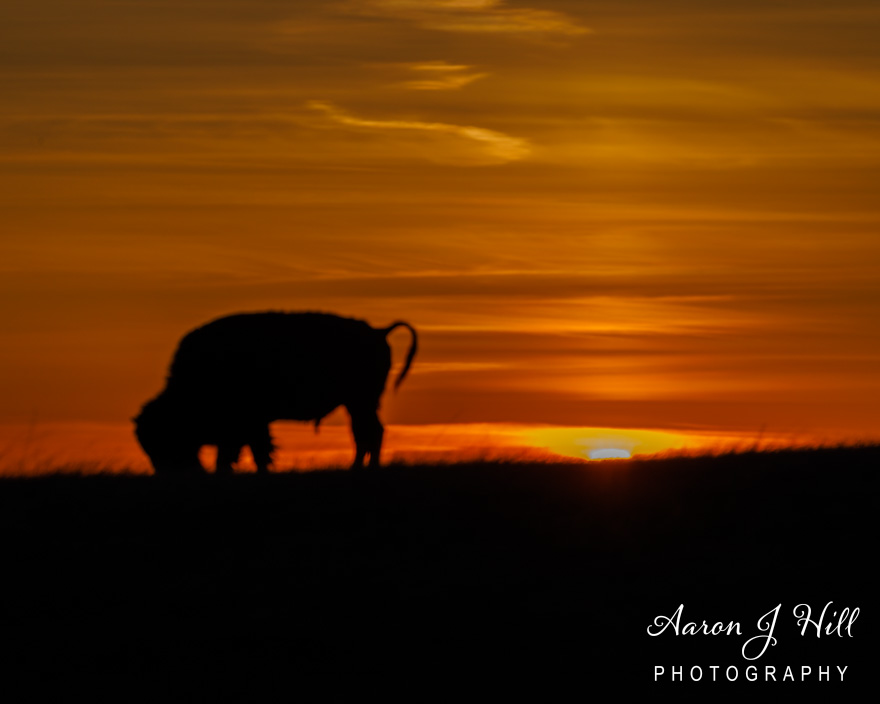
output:
[{"label": "bison's dark rounded torso, without head, legs or tail", "polygon": [[373,396],[378,402],[389,366],[384,336],[364,321],[243,313],[187,334],[167,389],[217,412],[240,408],[267,420],[310,420],[341,404]]}]

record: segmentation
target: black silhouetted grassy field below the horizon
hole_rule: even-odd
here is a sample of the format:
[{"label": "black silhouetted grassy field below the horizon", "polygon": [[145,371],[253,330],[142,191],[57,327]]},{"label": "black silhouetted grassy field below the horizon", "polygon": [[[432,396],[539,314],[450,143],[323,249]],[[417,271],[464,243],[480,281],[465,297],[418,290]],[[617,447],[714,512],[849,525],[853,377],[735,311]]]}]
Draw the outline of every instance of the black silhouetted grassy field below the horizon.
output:
[{"label": "black silhouetted grassy field below the horizon", "polygon": [[[846,700],[876,679],[878,461],[873,447],[4,480],[2,667],[35,692],[109,688],[118,701],[263,701],[270,683],[298,698],[316,673],[329,674],[325,699],[538,680],[542,701],[562,682],[582,700],[607,701],[605,685],[706,698],[809,686]],[[802,637],[792,609],[817,616],[829,601],[829,616],[861,609],[852,637]],[[743,635],[649,637],[679,604],[682,625],[739,621]],[[777,604],[777,645],[744,660]],[[767,664],[778,679],[813,670],[806,684],[764,682]],[[655,683],[655,665],[706,674]],[[738,680],[707,681],[711,665],[721,680],[736,665]]]}]

